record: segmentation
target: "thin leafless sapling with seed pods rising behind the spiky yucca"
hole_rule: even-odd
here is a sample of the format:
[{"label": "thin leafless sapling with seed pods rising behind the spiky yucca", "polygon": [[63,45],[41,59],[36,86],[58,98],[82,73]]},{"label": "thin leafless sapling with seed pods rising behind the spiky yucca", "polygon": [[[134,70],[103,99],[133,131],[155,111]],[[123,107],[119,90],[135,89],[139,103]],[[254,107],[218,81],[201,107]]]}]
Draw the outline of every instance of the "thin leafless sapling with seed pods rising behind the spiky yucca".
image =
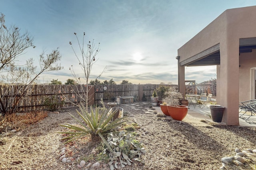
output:
[{"label": "thin leafless sapling with seed pods rising behind the spiky yucca", "polygon": [[[90,74],[92,72],[92,66],[94,65],[94,63],[96,63],[96,61],[98,61],[98,59],[96,59],[95,57],[100,51],[100,49],[99,49],[100,43],[98,43],[98,45],[96,46],[96,44],[94,43],[94,40],[92,42],[89,41],[87,43],[87,48],[84,49],[85,48],[84,47],[85,46],[84,45],[85,33],[83,35],[82,44],[80,44],[76,33],[74,33],[74,35],[76,36],[76,39],[78,41],[80,55],[78,55],[76,53],[76,51],[74,50],[74,48],[72,46],[72,43],[69,42],[69,44],[71,45],[72,50],[74,51],[74,54],[75,54],[76,58],[78,59],[79,65],[84,73],[83,78],[86,81],[86,92],[85,92],[85,99],[83,99],[83,100],[84,100],[84,102],[86,102],[86,110],[88,110],[88,101],[90,99],[90,96],[88,96],[88,94],[89,94],[89,87],[88,87],[89,78],[90,78]],[[73,66],[72,66],[72,68],[70,68],[70,70],[71,70],[74,78],[76,79],[76,81],[81,84],[80,77],[74,72]],[[106,70],[106,67],[103,69],[103,71],[99,74],[99,76],[97,78],[99,78],[105,70]],[[79,95],[79,96],[81,97],[81,95]]]}]

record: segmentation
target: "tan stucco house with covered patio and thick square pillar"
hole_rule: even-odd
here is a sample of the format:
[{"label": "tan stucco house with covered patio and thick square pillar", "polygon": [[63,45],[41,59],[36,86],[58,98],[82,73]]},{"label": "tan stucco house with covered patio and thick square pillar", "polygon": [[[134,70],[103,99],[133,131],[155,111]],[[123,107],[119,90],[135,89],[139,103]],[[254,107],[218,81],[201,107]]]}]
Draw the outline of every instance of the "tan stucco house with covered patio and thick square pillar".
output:
[{"label": "tan stucco house with covered patio and thick square pillar", "polygon": [[216,65],[222,122],[239,125],[238,103],[255,98],[256,6],[224,11],[178,49],[178,86],[185,94],[185,66]]}]

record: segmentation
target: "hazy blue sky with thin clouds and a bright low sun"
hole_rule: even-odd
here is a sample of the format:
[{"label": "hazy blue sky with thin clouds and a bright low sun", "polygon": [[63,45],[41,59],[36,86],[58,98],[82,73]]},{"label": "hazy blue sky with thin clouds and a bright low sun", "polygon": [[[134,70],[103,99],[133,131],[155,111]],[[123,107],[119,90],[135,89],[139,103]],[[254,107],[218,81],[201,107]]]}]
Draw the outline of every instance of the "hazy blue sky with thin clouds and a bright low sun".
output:
[{"label": "hazy blue sky with thin clouds and a bright low sun", "polygon": [[[89,80],[116,84],[177,84],[178,49],[225,10],[256,5],[255,0],[0,0],[6,26],[16,25],[34,37],[36,48],[18,58],[38,62],[39,55],[59,48],[62,70],[40,75],[37,83],[58,79],[64,84],[84,77],[74,51],[78,40],[100,43]],[[205,69],[207,67],[207,69]],[[204,71],[202,71],[204,70]],[[216,78],[216,66],[185,67],[185,80]],[[83,81],[83,80],[82,80]]]}]

